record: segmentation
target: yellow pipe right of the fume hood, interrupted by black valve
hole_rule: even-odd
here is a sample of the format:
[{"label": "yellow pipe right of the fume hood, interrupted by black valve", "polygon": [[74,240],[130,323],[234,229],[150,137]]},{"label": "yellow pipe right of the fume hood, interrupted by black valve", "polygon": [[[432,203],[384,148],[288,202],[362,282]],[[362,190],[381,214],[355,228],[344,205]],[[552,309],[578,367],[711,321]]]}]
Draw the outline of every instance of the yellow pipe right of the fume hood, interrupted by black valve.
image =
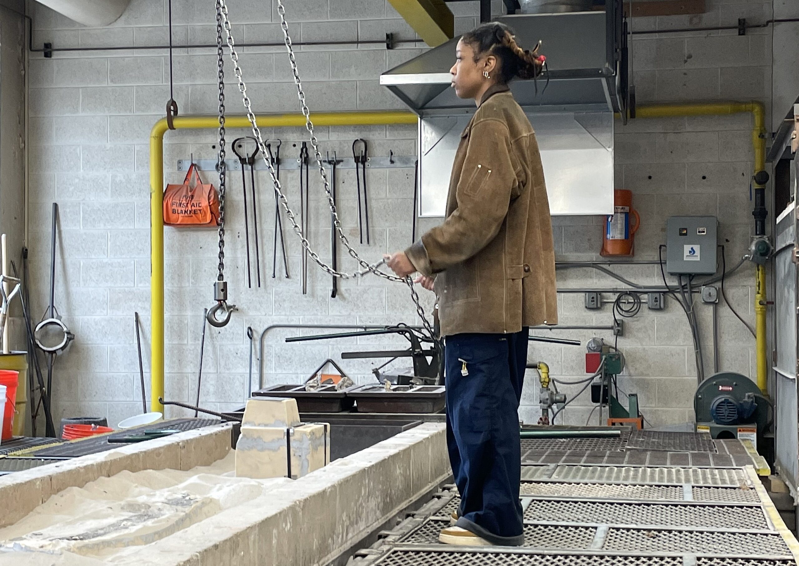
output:
[{"label": "yellow pipe right of the fume hood, interrupted by black valve", "polygon": [[[638,118],[662,118],[677,116],[710,116],[717,114],[752,113],[754,125],[752,129],[752,147],[754,152],[753,188],[763,188],[754,180],[757,172],[765,171],[765,107],[762,102],[710,102],[685,105],[647,105],[639,106],[635,111]],[[768,394],[768,363],[765,340],[765,267],[755,267],[755,353],[757,355],[757,386],[761,392]]]}]

